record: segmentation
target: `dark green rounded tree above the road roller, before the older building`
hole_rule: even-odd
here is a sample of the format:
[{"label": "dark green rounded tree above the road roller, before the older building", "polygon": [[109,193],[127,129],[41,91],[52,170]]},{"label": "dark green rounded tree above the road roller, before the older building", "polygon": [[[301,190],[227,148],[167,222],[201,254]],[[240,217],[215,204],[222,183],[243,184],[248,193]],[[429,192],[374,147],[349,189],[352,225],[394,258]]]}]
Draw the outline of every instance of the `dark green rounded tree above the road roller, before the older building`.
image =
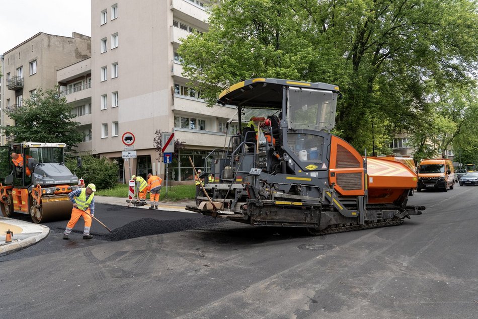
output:
[{"label": "dark green rounded tree above the road roller, before the older building", "polygon": [[78,122],[71,119],[71,108],[65,97],[59,97],[56,90],[37,90],[34,97],[23,100],[17,109],[6,109],[15,125],[2,126],[6,136],[13,136],[15,142],[34,141],[66,143],[71,150],[83,140],[76,130]]}]

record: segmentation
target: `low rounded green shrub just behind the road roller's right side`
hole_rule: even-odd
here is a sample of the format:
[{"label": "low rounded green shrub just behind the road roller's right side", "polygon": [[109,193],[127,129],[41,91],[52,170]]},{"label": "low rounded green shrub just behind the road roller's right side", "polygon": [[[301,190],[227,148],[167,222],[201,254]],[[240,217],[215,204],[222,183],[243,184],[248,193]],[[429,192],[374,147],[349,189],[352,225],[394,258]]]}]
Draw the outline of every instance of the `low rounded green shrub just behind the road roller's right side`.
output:
[{"label": "low rounded green shrub just behind the road roller's right side", "polygon": [[92,155],[82,155],[82,167],[76,168],[76,156],[66,159],[66,167],[83,178],[85,184],[93,183],[96,189],[109,189],[118,182],[118,165],[106,157],[97,158]]}]

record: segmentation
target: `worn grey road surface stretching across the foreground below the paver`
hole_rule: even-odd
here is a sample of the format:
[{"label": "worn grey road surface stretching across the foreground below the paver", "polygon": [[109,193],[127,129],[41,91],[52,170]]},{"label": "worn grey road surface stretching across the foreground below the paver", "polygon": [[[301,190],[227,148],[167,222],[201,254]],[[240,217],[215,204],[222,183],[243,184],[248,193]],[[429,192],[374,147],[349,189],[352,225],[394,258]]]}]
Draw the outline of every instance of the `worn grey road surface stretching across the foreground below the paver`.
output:
[{"label": "worn grey road surface stretching across the foreground below the paver", "polygon": [[4,261],[0,313],[474,318],[477,195],[416,193],[427,210],[395,227],[307,236],[225,222]]}]

